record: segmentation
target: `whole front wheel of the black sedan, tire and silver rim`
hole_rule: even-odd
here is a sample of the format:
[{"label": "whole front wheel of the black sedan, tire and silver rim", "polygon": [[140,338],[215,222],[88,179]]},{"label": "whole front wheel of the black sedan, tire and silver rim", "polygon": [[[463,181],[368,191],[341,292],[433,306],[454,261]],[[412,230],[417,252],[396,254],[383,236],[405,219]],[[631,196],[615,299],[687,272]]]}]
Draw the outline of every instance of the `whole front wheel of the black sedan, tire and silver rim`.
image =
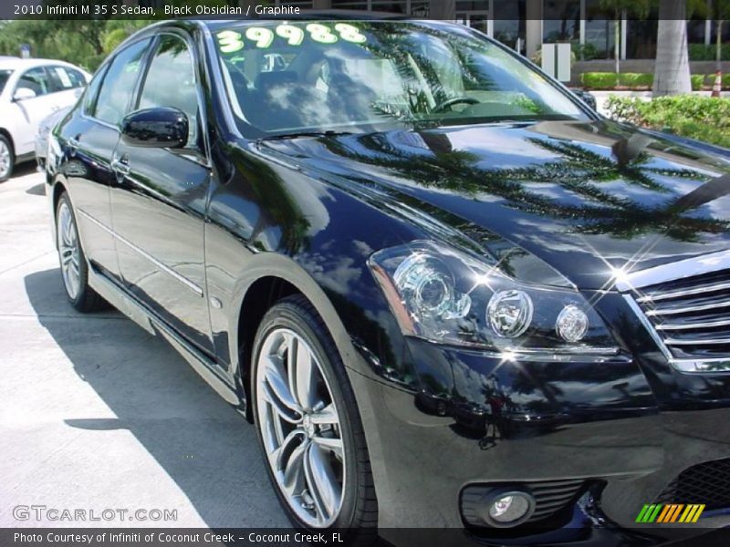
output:
[{"label": "whole front wheel of the black sedan, tire and silver rim", "polygon": [[[293,368],[297,374],[289,381],[291,347],[296,347]],[[374,542],[378,503],[360,414],[342,359],[314,306],[298,294],[275,304],[258,327],[252,359],[256,433],[269,479],[287,516],[301,529],[347,529],[350,544]],[[281,386],[279,380],[284,378],[287,384]],[[289,394],[288,403],[299,408],[293,411],[283,403],[288,418],[297,423],[289,423],[276,410],[287,400],[286,394],[278,397],[282,390]],[[287,443],[287,439],[292,440]],[[281,454],[282,461],[270,456],[276,446],[287,447],[274,452]],[[297,461],[299,472],[295,473]],[[323,480],[326,477],[330,480]],[[318,486],[329,482],[344,485],[339,504],[333,502],[336,488]]]}]

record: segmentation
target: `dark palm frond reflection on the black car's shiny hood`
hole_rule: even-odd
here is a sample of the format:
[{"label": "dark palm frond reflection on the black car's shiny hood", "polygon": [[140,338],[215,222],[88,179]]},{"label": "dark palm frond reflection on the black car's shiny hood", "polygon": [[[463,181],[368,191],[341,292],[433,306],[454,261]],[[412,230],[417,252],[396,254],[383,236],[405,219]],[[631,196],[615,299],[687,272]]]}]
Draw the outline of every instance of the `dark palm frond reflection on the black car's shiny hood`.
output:
[{"label": "dark palm frond reflection on the black car's shiny hood", "polygon": [[[423,150],[392,146],[387,134],[359,138],[360,146],[370,153],[349,147],[346,141],[327,139],[324,144],[340,156],[375,165],[398,173],[425,188],[440,188],[477,197],[489,193],[507,201],[507,206],[522,212],[535,212],[569,221],[574,232],[610,234],[631,239],[647,232],[665,232],[673,239],[697,241],[700,232],[727,232],[730,223],[683,215],[701,203],[687,203],[682,197],[668,195],[662,205],[649,207],[628,197],[600,188],[602,183],[622,181],[648,191],[671,194],[660,178],[707,181],[694,170],[656,168],[648,165],[652,156],[644,151],[647,142],[631,147],[631,139],[619,139],[613,158],[589,150],[575,141],[528,139],[533,145],[558,156],[558,160],[516,168],[485,168],[477,154],[453,150],[447,135],[431,131],[419,133]],[[374,152],[374,153],[373,153]],[[531,185],[557,184],[585,199],[585,204],[570,204],[550,199]],[[680,204],[681,206],[678,206]]]}]

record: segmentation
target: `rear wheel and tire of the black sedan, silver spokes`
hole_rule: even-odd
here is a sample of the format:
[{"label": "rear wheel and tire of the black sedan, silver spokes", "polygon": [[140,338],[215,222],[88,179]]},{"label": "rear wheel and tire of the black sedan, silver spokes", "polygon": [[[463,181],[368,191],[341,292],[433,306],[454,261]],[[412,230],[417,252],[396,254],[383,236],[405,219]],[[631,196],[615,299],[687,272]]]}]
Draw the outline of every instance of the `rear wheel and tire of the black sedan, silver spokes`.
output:
[{"label": "rear wheel and tire of the black sedan, silver spokes", "polygon": [[95,312],[106,302],[89,286],[89,263],[78,238],[78,226],[68,193],[58,198],[56,208],[56,243],[64,290],[79,312]]}]

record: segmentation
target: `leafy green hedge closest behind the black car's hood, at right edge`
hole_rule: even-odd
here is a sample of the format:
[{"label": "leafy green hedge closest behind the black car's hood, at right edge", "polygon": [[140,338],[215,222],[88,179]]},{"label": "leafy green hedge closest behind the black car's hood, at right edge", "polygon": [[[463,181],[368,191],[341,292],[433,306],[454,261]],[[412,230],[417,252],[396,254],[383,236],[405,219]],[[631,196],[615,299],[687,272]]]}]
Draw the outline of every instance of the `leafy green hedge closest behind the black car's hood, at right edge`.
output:
[{"label": "leafy green hedge closest behind the black car's hood, at right edge", "polygon": [[681,95],[650,101],[610,96],[613,119],[730,148],[730,98]]}]

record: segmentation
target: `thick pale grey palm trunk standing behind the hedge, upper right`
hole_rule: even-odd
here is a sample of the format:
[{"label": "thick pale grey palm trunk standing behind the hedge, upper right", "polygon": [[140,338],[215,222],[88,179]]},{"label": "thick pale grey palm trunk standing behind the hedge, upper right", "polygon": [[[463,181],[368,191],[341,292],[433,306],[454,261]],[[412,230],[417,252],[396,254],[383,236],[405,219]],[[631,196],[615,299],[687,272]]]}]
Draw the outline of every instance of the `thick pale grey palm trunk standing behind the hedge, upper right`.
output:
[{"label": "thick pale grey palm trunk standing behind the hedge, upper right", "polygon": [[690,93],[687,50],[687,5],[684,0],[659,0],[653,97]]}]

